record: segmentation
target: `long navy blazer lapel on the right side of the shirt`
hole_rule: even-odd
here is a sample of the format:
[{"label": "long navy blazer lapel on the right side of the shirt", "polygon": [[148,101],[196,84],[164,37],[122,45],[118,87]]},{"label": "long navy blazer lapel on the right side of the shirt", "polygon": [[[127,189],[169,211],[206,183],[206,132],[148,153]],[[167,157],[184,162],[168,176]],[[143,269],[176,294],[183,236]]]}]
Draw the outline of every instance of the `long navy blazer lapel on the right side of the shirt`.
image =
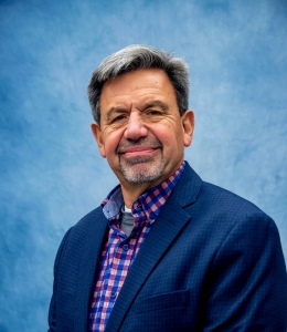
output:
[{"label": "long navy blazer lapel on the right side of the shirt", "polygon": [[[191,205],[195,200],[201,179],[189,165],[185,167],[187,169],[152,226],[126,277],[108,319],[106,332],[119,331],[142,284],[180,230],[191,220],[191,216],[182,207]],[[187,190],[189,195],[185,195]]]}]

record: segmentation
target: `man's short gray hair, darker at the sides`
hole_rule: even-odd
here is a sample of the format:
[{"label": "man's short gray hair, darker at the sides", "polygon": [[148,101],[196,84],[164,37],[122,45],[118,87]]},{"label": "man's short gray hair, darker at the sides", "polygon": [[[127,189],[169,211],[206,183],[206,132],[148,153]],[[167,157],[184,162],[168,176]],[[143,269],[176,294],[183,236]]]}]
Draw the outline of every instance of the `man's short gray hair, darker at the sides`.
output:
[{"label": "man's short gray hair, darker at the sides", "polygon": [[87,86],[89,105],[95,122],[100,123],[99,98],[106,81],[140,69],[160,69],[174,87],[179,113],[189,107],[189,70],[180,58],[147,45],[129,45],[106,58],[93,73]]}]

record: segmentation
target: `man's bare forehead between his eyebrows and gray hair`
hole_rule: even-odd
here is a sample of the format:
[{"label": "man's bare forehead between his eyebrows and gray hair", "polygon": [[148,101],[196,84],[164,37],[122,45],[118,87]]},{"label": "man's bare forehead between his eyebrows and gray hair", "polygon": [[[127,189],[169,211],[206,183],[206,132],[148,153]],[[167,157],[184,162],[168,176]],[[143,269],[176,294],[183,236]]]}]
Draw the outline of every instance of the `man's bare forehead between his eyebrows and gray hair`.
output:
[{"label": "man's bare forehead between his eyebrows and gray hair", "polygon": [[176,101],[174,87],[164,71],[142,69],[120,74],[107,81],[102,90],[100,105],[111,102],[140,102],[145,98],[168,98]]}]

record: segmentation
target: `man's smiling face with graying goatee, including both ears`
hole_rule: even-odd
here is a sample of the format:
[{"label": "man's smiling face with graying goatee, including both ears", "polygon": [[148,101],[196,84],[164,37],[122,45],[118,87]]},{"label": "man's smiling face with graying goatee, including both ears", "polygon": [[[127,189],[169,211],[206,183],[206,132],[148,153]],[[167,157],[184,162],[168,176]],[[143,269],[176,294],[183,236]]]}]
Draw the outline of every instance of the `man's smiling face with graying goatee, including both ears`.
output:
[{"label": "man's smiling face with graying goatee, including both ears", "polygon": [[158,69],[124,73],[104,84],[100,126],[92,124],[99,152],[120,183],[152,187],[176,172],[189,146],[193,113],[180,117],[176,92]]}]

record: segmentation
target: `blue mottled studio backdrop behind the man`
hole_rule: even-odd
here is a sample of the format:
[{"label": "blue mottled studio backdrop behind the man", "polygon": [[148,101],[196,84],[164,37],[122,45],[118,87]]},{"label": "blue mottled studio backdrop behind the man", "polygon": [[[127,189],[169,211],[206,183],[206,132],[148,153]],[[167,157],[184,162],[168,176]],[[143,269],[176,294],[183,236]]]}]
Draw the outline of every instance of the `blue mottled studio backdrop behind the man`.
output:
[{"label": "blue mottled studio backdrop behind the man", "polygon": [[270,215],[287,257],[287,2],[0,1],[0,331],[45,331],[64,232],[117,184],[89,131],[86,85],[131,43],[190,65],[208,181]]}]

